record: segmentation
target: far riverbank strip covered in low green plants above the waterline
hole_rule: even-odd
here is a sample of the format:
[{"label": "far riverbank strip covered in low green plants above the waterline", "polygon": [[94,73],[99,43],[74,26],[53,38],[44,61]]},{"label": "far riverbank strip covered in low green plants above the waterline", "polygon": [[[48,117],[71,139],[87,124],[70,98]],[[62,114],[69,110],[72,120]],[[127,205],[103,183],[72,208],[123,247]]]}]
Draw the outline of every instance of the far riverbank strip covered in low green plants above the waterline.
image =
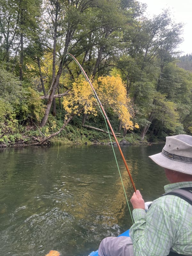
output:
[{"label": "far riverbank strip covered in low green plants above the waterline", "polygon": [[[95,131],[92,129],[87,129],[85,127],[74,127],[68,125],[65,130],[63,130],[59,135],[52,137],[51,139],[42,140],[48,138],[50,133],[40,131],[40,129],[28,129],[24,133],[12,134],[9,136],[4,136],[0,140],[0,148],[6,147],[20,147],[20,146],[34,146],[34,145],[66,145],[66,144],[116,144],[116,141],[112,134]],[[116,132],[116,138],[119,144],[122,145],[152,145],[153,143],[162,142],[158,138],[153,138],[153,141],[149,139],[148,136],[144,140],[141,139],[140,133],[127,133],[123,136],[123,133]]]}]

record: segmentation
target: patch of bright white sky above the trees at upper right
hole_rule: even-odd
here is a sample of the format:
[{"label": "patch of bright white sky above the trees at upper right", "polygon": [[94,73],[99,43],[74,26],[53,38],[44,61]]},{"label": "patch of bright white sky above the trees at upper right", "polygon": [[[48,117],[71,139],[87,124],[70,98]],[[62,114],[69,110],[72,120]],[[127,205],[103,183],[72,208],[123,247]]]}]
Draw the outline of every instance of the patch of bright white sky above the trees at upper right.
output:
[{"label": "patch of bright white sky above the trees at upper right", "polygon": [[192,53],[192,1],[191,0],[138,0],[147,4],[148,14],[159,14],[162,9],[170,8],[174,20],[184,23],[183,43],[178,50],[182,51],[180,55]]}]

